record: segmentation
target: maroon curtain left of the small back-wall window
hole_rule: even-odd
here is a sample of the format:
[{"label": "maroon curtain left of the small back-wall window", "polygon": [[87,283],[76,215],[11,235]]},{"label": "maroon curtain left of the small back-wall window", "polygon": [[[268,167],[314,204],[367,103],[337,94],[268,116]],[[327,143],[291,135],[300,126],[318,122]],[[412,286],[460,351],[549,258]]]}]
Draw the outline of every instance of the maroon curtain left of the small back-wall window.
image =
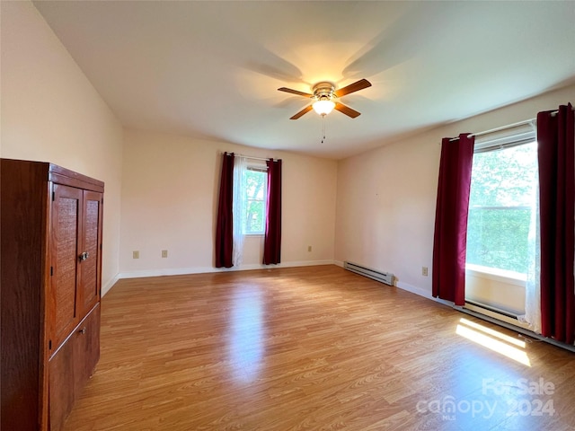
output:
[{"label": "maroon curtain left of the small back-wall window", "polygon": [[234,228],[232,200],[234,196],[234,153],[224,153],[219,181],[219,203],[216,221],[216,268],[232,268]]}]

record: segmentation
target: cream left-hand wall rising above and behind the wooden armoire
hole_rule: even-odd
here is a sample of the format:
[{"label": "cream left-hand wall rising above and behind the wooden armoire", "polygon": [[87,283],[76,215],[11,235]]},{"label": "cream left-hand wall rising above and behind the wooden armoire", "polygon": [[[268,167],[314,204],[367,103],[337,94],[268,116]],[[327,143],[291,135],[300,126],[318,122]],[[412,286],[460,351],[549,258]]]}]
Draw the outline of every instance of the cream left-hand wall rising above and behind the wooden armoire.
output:
[{"label": "cream left-hand wall rising above and behind the wooden armoire", "polygon": [[0,7],[0,155],[56,163],[105,182],[105,293],[119,273],[122,128],[31,3]]}]

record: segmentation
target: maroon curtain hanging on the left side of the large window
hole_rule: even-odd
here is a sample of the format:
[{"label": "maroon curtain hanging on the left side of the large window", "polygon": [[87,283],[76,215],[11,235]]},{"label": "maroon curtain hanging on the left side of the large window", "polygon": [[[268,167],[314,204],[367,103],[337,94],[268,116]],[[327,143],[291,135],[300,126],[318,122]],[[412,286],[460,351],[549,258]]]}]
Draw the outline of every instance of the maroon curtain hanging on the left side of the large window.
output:
[{"label": "maroon curtain hanging on the left side of the large window", "polygon": [[441,141],[432,295],[456,305],[465,303],[465,249],[474,143],[475,137],[467,133],[456,140],[445,137]]}]

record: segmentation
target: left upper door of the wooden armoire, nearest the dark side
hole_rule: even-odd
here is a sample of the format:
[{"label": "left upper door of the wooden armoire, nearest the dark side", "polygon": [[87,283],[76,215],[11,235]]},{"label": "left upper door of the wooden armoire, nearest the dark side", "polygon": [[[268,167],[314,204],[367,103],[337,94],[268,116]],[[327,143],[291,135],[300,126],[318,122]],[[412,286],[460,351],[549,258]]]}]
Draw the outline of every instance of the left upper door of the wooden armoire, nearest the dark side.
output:
[{"label": "left upper door of the wooden armoire, nearest the dark side", "polygon": [[54,185],[52,202],[52,341],[57,347],[77,324],[76,262],[82,211],[82,190]]}]

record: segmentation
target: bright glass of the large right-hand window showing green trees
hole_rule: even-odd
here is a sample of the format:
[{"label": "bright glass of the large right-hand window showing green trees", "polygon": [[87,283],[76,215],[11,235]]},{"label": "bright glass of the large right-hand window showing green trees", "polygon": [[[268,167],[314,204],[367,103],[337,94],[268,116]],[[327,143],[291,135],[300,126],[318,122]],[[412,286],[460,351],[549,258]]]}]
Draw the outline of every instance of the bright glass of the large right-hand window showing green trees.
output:
[{"label": "bright glass of the large right-hand window showing green trees", "polygon": [[535,142],[473,154],[467,263],[526,273],[536,175]]}]

